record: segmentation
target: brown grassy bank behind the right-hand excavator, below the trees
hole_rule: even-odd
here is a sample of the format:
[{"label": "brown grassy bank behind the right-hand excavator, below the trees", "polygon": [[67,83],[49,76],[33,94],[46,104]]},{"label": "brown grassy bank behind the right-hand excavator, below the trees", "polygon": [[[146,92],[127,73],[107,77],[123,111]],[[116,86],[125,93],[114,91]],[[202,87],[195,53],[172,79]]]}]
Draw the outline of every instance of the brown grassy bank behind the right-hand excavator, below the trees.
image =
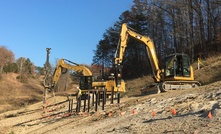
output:
[{"label": "brown grassy bank behind the right-hand excavator, below the trees", "polygon": [[[199,70],[197,69],[197,62],[192,64],[195,80],[200,81],[202,85],[221,80],[221,55],[211,55],[201,62],[203,65],[201,65]],[[127,92],[123,95],[128,97],[142,95],[142,90],[151,91],[152,89],[147,87],[154,83],[151,76],[127,80],[125,82]]]}]

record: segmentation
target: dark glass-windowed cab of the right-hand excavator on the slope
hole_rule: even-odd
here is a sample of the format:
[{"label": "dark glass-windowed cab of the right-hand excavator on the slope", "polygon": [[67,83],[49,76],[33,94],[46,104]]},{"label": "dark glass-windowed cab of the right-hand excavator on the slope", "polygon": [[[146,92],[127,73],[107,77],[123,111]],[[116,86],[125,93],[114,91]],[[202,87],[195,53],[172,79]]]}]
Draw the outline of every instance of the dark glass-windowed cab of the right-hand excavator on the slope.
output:
[{"label": "dark glass-windowed cab of the right-hand excavator on the slope", "polygon": [[164,78],[183,80],[191,76],[190,60],[186,54],[176,53],[165,58]]}]

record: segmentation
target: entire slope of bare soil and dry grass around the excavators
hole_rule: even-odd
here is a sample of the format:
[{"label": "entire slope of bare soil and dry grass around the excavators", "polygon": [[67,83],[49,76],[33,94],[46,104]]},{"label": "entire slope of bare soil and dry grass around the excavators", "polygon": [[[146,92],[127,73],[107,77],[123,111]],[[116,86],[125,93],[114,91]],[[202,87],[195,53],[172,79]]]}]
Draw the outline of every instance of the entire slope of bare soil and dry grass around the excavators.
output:
[{"label": "entire slope of bare soil and dry grass around the excavators", "polygon": [[[1,89],[1,106],[7,112],[0,114],[0,133],[218,133],[221,131],[220,59],[217,56],[202,61],[200,70],[193,64],[196,80],[202,83],[199,88],[142,94],[153,82],[149,76],[142,77],[126,81],[127,92],[119,105],[107,101],[104,111],[94,112],[91,107],[89,113],[71,115],[66,114],[68,103],[51,107],[46,113],[41,109],[40,79],[21,84],[14,74],[7,74],[7,79],[1,81],[4,89]],[[56,97],[57,102],[65,100]],[[24,108],[17,109],[19,106]]]}]

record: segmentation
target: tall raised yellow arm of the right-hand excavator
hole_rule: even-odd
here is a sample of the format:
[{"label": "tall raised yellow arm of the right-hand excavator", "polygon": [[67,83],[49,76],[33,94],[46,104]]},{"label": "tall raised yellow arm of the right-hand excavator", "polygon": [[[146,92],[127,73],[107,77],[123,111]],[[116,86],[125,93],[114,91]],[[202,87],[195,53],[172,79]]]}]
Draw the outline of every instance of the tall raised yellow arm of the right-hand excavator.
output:
[{"label": "tall raised yellow arm of the right-hand excavator", "polygon": [[115,53],[115,68],[117,70],[115,72],[115,77],[118,78],[116,80],[119,80],[119,77],[121,77],[121,64],[123,61],[123,56],[127,47],[127,41],[129,36],[142,42],[146,46],[147,54],[149,56],[151,67],[153,70],[153,78],[155,82],[160,82],[162,80],[161,69],[159,67],[158,58],[156,55],[156,50],[153,41],[149,37],[136,33],[132,28],[128,27],[126,23],[122,24],[120,40],[118,42],[118,48]]}]

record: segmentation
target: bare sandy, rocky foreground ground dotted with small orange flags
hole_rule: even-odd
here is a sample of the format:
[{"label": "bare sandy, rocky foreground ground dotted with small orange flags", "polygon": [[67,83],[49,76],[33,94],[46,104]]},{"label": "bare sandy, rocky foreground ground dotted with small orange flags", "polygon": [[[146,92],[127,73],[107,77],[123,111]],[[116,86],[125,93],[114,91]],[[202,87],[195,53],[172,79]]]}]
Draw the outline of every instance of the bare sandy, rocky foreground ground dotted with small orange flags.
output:
[{"label": "bare sandy, rocky foreground ground dotted with small orange flags", "polygon": [[[0,115],[0,133],[47,134],[208,134],[221,131],[221,82],[196,89],[173,90],[122,98],[121,103],[105,109],[68,114],[65,97],[48,103],[57,104],[47,109],[42,103],[9,111]],[[59,104],[60,102],[60,104]],[[50,105],[50,104],[48,104]],[[75,108],[75,103],[74,103]]]}]

